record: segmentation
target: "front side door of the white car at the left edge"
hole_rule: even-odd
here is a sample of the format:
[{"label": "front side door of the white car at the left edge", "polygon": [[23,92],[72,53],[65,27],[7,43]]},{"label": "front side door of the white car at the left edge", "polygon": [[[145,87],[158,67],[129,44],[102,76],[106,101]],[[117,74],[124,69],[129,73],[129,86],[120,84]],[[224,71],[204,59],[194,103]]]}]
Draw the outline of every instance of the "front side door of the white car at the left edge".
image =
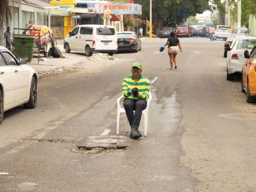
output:
[{"label": "front side door of the white car at the left edge", "polygon": [[13,80],[15,79],[15,104],[28,99],[30,91],[29,68],[24,65],[19,65],[15,56],[10,52],[3,52],[3,56],[6,60],[6,65],[14,70]]}]

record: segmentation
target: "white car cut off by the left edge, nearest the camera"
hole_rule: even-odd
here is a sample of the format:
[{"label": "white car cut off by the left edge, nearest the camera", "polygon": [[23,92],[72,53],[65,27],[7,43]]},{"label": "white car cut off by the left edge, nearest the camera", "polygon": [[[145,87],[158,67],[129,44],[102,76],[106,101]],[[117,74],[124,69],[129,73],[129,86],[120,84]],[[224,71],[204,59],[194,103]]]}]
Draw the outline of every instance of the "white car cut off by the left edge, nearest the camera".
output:
[{"label": "white car cut off by the left edge, nearest the camera", "polygon": [[37,74],[26,64],[27,60],[15,56],[0,46],[0,123],[4,111],[24,104],[35,108],[37,101]]}]

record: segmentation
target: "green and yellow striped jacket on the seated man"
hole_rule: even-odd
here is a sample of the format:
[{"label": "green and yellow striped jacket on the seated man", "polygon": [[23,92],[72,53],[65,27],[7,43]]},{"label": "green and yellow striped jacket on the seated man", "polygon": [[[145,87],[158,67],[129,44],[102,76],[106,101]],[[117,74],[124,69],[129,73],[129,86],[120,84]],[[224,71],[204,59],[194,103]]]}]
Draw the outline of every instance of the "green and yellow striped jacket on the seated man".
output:
[{"label": "green and yellow striped jacket on the seated man", "polygon": [[139,99],[138,97],[129,95],[129,90],[131,90],[132,88],[138,88],[138,92],[141,95],[141,99],[148,99],[150,81],[148,80],[147,77],[140,76],[137,82],[134,81],[132,75],[125,77],[123,81],[123,95],[125,99]]}]

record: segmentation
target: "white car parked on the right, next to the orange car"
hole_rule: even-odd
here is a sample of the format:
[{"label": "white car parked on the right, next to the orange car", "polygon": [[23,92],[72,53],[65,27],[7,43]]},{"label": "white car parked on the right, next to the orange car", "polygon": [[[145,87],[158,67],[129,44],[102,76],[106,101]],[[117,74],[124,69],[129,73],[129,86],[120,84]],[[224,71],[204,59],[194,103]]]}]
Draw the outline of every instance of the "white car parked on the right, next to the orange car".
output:
[{"label": "white car parked on the right, next to the orange car", "polygon": [[227,56],[227,80],[234,79],[234,74],[242,72],[242,66],[246,61],[244,51],[252,51],[256,46],[256,36],[237,36]]}]

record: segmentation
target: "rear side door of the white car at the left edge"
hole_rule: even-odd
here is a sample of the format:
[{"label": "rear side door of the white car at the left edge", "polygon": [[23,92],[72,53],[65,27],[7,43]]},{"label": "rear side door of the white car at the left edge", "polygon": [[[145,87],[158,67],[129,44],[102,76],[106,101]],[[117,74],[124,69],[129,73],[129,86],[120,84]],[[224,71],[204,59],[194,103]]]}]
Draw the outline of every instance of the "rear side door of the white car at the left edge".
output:
[{"label": "rear side door of the white car at the left edge", "polygon": [[0,83],[3,86],[4,110],[14,104],[15,97],[15,69],[6,65],[3,54],[0,52]]}]

